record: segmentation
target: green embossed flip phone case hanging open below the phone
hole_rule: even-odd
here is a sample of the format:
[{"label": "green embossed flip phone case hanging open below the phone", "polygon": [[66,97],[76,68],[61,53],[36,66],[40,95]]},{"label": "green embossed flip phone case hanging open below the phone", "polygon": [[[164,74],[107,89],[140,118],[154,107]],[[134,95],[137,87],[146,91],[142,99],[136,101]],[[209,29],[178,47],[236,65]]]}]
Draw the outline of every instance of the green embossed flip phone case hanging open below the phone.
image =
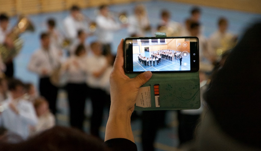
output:
[{"label": "green embossed flip phone case hanging open below the phone", "polygon": [[[155,35],[166,37],[166,33],[155,32]],[[126,73],[126,75],[133,78],[138,73]],[[144,100],[149,98],[151,107],[139,107],[135,104],[134,110],[198,109],[200,107],[199,84],[199,72],[154,72],[151,79],[141,86],[146,87],[146,92],[138,94],[139,103],[146,104],[148,102]]]}]

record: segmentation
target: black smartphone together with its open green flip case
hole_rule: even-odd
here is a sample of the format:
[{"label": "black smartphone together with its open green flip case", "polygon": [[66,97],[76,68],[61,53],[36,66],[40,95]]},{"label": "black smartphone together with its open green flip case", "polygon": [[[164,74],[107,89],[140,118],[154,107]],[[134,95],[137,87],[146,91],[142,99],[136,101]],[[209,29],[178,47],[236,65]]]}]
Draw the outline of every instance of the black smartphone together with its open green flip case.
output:
[{"label": "black smartphone together with its open green flip case", "polygon": [[200,107],[197,37],[134,37],[124,40],[124,70],[130,78],[151,71],[139,88],[135,110]]}]

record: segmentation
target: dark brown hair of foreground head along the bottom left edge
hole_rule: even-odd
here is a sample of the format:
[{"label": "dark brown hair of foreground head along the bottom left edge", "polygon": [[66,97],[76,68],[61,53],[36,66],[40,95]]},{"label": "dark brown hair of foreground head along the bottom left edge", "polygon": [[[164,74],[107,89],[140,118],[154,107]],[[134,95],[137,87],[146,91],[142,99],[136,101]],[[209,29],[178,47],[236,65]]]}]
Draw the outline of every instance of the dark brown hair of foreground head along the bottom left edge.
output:
[{"label": "dark brown hair of foreground head along the bottom left edge", "polygon": [[56,126],[21,143],[1,143],[0,150],[106,151],[103,141],[75,129]]}]

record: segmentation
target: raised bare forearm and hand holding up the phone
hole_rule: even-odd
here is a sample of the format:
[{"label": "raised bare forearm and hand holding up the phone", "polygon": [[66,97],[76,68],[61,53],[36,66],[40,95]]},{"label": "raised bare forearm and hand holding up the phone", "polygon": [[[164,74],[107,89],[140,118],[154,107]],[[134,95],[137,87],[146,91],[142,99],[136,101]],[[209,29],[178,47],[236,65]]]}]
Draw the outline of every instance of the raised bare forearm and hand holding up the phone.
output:
[{"label": "raised bare forearm and hand holding up the phone", "polygon": [[138,95],[139,87],[152,76],[151,71],[130,79],[123,70],[123,39],[118,45],[117,56],[110,75],[111,107],[106,125],[105,141],[125,138],[134,142],[131,129],[131,114]]}]

